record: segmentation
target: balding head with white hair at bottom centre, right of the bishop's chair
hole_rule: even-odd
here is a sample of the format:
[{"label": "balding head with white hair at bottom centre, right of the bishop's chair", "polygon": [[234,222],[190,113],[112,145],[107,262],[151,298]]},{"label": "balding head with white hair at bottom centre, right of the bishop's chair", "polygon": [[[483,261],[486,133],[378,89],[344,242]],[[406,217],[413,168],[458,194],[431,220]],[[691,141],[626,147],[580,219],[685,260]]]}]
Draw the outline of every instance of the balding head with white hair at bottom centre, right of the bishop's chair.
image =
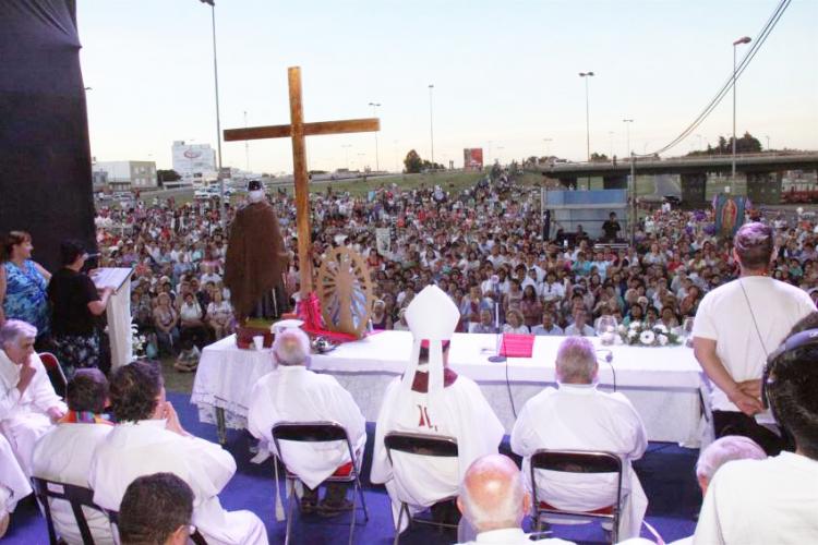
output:
[{"label": "balding head with white hair at bottom centre, right of the bishop's chair", "polygon": [[489,455],[469,465],[460,483],[457,507],[478,532],[488,532],[520,528],[530,499],[514,461],[503,455]]}]

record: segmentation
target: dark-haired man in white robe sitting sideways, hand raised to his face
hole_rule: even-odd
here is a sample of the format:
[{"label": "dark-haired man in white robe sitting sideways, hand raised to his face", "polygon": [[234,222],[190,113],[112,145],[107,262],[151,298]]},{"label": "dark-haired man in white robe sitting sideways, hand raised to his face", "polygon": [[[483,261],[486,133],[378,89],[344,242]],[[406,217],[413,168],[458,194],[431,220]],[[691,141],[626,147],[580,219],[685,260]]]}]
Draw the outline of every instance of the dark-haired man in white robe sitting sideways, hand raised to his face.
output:
[{"label": "dark-haired man in white robe sitting sideways, hand raised to his face", "polygon": [[221,507],[218,494],[236,473],[236,461],[182,427],[165,399],[157,366],[134,362],[119,367],[111,375],[110,401],[118,424],[96,448],[88,475],[98,506],[118,511],[136,477],[173,473],[193,489],[193,524],[208,544],[267,544],[258,517]]}]

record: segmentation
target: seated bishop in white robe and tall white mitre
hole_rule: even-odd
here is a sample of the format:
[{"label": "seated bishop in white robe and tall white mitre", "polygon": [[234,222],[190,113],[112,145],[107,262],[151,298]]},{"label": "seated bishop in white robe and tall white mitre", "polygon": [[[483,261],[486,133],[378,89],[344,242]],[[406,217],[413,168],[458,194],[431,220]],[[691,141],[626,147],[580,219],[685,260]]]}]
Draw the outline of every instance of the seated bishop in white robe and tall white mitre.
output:
[{"label": "seated bishop in white robe and tall white mitre", "polygon": [[[455,304],[435,286],[424,288],[407,307],[406,318],[414,339],[412,354],[404,376],[386,388],[371,473],[373,483],[386,485],[396,528],[401,500],[410,511],[418,512],[457,496],[471,462],[497,453],[503,439],[503,426],[478,385],[447,366],[449,339],[458,317]],[[454,437],[458,458],[394,452],[390,462],[384,445],[389,432]],[[398,532],[408,524],[406,516],[400,521]]]}]

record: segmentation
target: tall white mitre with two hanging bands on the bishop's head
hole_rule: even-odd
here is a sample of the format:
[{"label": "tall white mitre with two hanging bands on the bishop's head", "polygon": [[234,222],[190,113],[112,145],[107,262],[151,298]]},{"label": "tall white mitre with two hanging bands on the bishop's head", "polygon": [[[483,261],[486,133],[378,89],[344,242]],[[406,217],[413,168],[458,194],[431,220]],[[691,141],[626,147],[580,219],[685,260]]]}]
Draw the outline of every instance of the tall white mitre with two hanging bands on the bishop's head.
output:
[{"label": "tall white mitre with two hanging bands on the bishop's head", "polygon": [[452,339],[460,319],[460,312],[436,286],[426,286],[406,308],[406,323],[412,332],[412,354],[409,360],[401,388],[406,393],[412,388],[418,371],[420,346],[429,341],[429,396],[443,392],[443,342]]}]

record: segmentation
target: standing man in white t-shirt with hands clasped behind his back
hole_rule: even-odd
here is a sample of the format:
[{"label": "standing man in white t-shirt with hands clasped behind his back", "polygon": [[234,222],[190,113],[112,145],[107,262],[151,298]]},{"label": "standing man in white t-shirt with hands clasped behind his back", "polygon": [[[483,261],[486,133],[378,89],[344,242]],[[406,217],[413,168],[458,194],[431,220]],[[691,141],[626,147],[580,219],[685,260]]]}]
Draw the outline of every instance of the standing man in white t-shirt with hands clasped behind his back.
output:
[{"label": "standing man in white t-shirt with hands clasped behind his back", "polygon": [[733,256],[742,274],[701,300],[693,328],[694,351],[713,384],[715,436],[744,435],[768,455],[777,455],[783,441],[754,420],[763,412],[761,373],[770,352],[815,305],[806,292],[767,276],[775,256],[771,227],[742,226]]}]

